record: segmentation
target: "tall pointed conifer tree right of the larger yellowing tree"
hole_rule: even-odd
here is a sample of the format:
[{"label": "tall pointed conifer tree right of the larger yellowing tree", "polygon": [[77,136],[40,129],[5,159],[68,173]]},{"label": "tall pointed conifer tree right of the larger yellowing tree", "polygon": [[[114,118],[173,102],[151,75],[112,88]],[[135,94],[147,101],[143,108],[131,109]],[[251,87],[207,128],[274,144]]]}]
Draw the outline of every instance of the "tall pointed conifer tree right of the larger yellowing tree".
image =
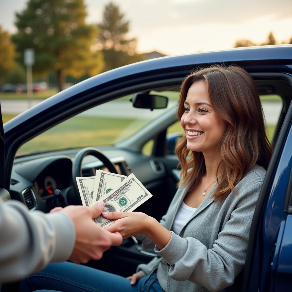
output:
[{"label": "tall pointed conifer tree right of the larger yellowing tree", "polygon": [[113,2],[104,8],[100,33],[94,46],[105,56],[104,71],[145,60],[145,56],[136,53],[137,40],[126,39],[129,21],[124,20],[124,16]]}]

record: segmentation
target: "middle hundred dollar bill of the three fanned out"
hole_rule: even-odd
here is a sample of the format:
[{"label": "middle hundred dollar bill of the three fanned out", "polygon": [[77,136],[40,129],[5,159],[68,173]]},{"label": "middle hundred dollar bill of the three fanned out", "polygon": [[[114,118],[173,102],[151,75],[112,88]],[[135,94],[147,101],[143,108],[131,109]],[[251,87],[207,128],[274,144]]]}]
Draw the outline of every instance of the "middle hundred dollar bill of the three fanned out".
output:
[{"label": "middle hundred dollar bill of the three fanned out", "polygon": [[126,178],[126,175],[111,173],[107,171],[96,171],[93,190],[93,204],[100,199],[107,197],[107,194],[116,190]]}]

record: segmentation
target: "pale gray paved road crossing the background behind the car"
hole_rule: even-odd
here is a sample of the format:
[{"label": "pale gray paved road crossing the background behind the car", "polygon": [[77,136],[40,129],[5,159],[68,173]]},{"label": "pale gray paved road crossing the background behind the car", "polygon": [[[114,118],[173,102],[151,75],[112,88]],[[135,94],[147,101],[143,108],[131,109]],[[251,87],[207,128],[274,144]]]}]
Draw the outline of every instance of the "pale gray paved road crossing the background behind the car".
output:
[{"label": "pale gray paved road crossing the background behind the car", "polygon": [[[1,109],[3,114],[20,114],[29,107],[38,104],[41,100],[1,100]],[[113,106],[114,105],[114,106]],[[168,107],[174,106],[174,101],[169,101]],[[267,124],[276,124],[281,112],[281,102],[263,102],[263,110]],[[99,116],[99,117],[127,117],[151,119],[161,114],[163,110],[145,110],[131,107],[127,101],[112,101],[102,104],[98,107],[87,110],[81,115],[84,116]]]}]

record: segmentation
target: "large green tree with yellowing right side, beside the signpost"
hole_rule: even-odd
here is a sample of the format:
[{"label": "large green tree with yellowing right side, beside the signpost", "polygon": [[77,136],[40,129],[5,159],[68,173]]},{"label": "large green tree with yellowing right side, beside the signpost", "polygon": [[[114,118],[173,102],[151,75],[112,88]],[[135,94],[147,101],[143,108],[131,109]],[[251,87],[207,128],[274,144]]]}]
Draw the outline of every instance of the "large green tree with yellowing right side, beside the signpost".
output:
[{"label": "large green tree with yellowing right side, beside the signpost", "polygon": [[58,88],[64,88],[65,75],[79,78],[93,76],[104,67],[100,51],[92,49],[98,28],[85,24],[83,0],[29,0],[27,7],[16,13],[18,33],[12,40],[23,62],[23,51],[33,48],[33,72],[55,70]]}]

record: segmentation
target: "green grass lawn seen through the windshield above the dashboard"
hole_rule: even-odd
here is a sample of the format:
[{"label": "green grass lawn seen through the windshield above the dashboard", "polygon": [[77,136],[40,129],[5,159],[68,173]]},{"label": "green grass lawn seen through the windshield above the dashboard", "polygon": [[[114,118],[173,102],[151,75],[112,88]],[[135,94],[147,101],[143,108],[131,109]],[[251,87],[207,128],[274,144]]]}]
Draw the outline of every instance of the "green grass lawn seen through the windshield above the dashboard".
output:
[{"label": "green grass lawn seen through the windshield above the dashboard", "polygon": [[20,147],[17,155],[97,145],[112,145],[147,124],[145,119],[74,117]]}]

